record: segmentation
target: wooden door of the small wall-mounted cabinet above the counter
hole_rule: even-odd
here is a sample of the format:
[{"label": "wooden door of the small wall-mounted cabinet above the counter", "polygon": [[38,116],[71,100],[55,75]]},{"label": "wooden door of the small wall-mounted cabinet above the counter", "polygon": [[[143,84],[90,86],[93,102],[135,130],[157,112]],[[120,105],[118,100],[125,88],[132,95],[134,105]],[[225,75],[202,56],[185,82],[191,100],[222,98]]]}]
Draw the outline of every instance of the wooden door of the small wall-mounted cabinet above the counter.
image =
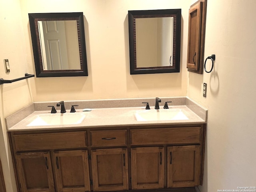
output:
[{"label": "wooden door of the small wall-mounted cabinet above the counter", "polygon": [[198,2],[189,9],[188,18],[188,58],[187,68],[199,70],[200,40],[202,22],[202,2]]}]

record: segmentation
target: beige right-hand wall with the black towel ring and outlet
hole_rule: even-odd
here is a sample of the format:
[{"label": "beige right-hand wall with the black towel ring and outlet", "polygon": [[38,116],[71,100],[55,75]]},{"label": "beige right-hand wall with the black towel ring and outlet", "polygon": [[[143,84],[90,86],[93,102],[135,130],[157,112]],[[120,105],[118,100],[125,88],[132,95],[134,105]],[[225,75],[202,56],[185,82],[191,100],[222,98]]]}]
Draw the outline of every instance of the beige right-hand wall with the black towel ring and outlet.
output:
[{"label": "beige right-hand wall with the black towel ring and outlet", "polygon": [[205,58],[216,54],[214,70],[188,79],[188,96],[209,110],[201,192],[256,184],[255,7],[255,0],[208,0]]}]

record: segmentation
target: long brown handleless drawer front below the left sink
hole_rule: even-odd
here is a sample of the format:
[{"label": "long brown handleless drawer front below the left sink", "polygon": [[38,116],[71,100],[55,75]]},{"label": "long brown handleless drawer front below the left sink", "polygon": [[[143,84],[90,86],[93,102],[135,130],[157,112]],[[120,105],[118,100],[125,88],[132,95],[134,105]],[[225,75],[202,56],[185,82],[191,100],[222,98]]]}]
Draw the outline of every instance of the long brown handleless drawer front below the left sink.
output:
[{"label": "long brown handleless drawer front below the left sink", "polygon": [[85,131],[22,134],[14,135],[13,138],[16,151],[86,147]]}]

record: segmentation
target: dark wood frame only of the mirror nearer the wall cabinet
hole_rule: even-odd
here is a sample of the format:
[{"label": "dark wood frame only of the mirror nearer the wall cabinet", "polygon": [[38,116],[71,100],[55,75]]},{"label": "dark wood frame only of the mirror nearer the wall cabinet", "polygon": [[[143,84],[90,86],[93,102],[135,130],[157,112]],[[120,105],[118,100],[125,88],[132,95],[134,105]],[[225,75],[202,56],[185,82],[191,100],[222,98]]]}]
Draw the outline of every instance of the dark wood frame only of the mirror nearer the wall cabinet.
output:
[{"label": "dark wood frame only of the mirror nearer the wall cabinet", "polygon": [[[136,63],[136,18],[174,17],[173,66],[137,67]],[[154,74],[180,72],[181,9],[128,11],[130,74]]]}]

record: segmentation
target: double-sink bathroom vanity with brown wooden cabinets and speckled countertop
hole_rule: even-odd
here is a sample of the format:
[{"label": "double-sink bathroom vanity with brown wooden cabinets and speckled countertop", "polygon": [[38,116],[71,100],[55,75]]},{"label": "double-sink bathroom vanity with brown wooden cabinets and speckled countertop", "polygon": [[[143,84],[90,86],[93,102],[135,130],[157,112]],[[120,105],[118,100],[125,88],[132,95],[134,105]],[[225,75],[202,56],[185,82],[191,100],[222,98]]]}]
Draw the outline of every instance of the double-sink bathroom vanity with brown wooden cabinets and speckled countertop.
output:
[{"label": "double-sink bathroom vanity with brown wooden cabinets and speckled countertop", "polygon": [[[91,111],[51,114],[55,102],[44,102],[6,117],[18,192],[196,192],[207,109],[187,97],[161,100],[169,109],[145,110],[156,98],[85,100],[65,105]],[[84,120],[48,122],[74,116]]]}]

